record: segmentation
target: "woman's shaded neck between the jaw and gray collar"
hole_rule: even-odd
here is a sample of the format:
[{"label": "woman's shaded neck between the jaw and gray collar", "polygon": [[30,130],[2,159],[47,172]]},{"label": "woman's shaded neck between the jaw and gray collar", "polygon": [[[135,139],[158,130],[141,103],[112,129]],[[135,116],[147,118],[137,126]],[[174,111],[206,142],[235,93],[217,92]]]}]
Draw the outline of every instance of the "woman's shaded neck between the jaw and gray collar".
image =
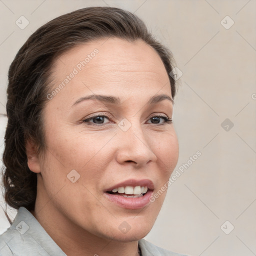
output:
[{"label": "woman's shaded neck between the jaw and gray collar", "polygon": [[137,240],[123,242],[85,230],[62,214],[46,193],[37,193],[30,212],[68,256],[139,256]]}]

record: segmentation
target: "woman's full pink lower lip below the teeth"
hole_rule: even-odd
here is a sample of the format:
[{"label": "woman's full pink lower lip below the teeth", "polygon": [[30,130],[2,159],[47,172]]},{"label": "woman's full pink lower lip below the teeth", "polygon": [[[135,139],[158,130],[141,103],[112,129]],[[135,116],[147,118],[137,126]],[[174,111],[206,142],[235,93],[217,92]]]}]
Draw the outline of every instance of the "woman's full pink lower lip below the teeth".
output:
[{"label": "woman's full pink lower lip below the teeth", "polygon": [[152,193],[153,191],[150,190],[140,197],[124,197],[122,195],[109,194],[107,192],[104,192],[105,196],[110,201],[126,209],[140,209],[145,207],[149,203],[149,198]]}]

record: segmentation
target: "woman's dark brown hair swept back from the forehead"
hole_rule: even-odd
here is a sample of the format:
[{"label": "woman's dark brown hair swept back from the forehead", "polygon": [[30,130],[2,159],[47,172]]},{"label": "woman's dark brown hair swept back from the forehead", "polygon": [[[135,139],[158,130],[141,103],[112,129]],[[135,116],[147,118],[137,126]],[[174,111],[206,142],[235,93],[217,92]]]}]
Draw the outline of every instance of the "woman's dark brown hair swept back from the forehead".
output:
[{"label": "woman's dark brown hair swept back from the forehead", "polygon": [[[45,146],[41,110],[47,101],[53,61],[79,43],[108,37],[131,42],[141,39],[158,53],[167,73],[173,68],[171,52],[150,34],[143,21],[120,8],[82,8],[39,27],[19,49],[8,72],[3,185],[9,206],[34,209],[36,173],[27,166],[25,141],[31,139],[38,153]],[[175,80],[169,76],[169,81],[174,98]]]}]

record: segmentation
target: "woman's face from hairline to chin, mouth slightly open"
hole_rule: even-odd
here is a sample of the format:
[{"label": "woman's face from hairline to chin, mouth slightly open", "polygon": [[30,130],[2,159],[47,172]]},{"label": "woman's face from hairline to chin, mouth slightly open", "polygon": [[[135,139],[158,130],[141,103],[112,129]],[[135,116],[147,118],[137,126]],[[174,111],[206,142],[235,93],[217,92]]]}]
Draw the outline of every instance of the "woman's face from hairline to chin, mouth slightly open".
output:
[{"label": "woman's face from hairline to chin, mouth slightly open", "polygon": [[38,180],[51,198],[48,214],[98,237],[141,239],[166,189],[153,202],[149,197],[168,181],[178,158],[160,57],[140,40],[100,39],[61,55],[51,79]]}]

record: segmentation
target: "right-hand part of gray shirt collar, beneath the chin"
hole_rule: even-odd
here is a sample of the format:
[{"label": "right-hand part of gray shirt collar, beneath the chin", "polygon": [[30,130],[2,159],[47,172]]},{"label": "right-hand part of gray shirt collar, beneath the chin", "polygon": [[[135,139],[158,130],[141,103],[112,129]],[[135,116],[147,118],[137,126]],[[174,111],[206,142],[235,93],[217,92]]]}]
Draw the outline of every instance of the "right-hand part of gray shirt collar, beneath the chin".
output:
[{"label": "right-hand part of gray shirt collar, beneath the chin", "polygon": [[161,256],[186,256],[184,254],[172,252],[172,251],[163,249],[161,247],[158,247],[145,239],[140,239],[138,241],[138,244],[139,244],[142,256],[151,256],[151,255],[153,255],[153,256],[156,256],[156,255],[159,255],[159,256],[160,255]]}]

